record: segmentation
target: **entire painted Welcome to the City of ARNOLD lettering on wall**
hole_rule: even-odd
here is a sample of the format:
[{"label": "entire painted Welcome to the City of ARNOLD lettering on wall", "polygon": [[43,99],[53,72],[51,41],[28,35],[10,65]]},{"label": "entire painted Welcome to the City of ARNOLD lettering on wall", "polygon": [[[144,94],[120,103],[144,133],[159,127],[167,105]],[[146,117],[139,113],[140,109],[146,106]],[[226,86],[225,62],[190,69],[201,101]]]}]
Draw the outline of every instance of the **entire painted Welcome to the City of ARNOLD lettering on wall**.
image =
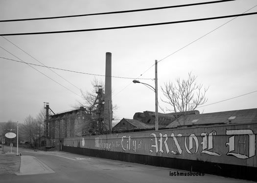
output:
[{"label": "entire painted Welcome to the City of ARNOLD lettering on wall", "polygon": [[[144,136],[122,134],[119,138],[95,137],[95,148],[159,156],[210,155],[248,159],[256,154],[255,133],[251,129],[211,129],[209,132],[188,130],[149,132]],[[170,133],[169,133],[170,132]],[[184,132],[184,133],[183,133]],[[85,144],[82,141],[82,145]],[[84,145],[83,145],[84,146]]]}]

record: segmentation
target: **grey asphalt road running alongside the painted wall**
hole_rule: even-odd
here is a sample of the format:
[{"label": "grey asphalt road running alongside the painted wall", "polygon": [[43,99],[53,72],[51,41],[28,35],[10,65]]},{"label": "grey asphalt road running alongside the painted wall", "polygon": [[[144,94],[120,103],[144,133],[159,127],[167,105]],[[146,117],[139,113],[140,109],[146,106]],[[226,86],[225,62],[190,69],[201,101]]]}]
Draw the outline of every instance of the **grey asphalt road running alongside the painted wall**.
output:
[{"label": "grey asphalt road running alongside the painted wall", "polygon": [[[4,151],[10,151],[5,146]],[[16,153],[16,148],[13,147]],[[100,159],[59,151],[33,151],[19,148],[23,156],[35,157],[53,173],[0,175],[0,183],[251,183],[214,175],[170,176],[177,169]]]}]

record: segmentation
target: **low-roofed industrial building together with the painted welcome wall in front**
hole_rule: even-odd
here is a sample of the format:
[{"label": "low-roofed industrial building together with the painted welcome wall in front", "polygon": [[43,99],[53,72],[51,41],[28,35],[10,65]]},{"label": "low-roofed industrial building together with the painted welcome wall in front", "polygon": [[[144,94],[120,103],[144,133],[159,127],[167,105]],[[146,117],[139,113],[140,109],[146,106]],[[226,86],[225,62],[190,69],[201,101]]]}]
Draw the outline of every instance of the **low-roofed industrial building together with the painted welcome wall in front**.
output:
[{"label": "low-roofed industrial building together with the painted welcome wall in front", "polygon": [[63,151],[257,181],[257,108],[160,116],[162,129],[144,111],[116,133],[65,138]]}]

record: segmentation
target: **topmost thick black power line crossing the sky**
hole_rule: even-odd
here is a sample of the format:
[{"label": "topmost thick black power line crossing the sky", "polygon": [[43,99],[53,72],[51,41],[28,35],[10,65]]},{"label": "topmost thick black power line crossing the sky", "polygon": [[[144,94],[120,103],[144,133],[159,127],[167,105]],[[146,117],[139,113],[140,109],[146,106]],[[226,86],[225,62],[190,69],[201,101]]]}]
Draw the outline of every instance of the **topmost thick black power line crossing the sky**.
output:
[{"label": "topmost thick black power line crossing the sky", "polygon": [[46,19],[62,19],[62,18],[85,17],[85,16],[93,16],[93,15],[107,15],[107,14],[117,14],[117,13],[130,13],[130,12],[139,12],[139,11],[149,11],[149,10],[159,10],[159,9],[167,9],[167,8],[177,8],[177,7],[185,7],[185,6],[203,5],[203,4],[211,4],[211,3],[219,3],[219,2],[227,2],[227,1],[234,1],[234,0],[216,0],[216,1],[209,1],[209,2],[199,2],[199,3],[192,3],[192,4],[181,4],[181,5],[174,5],[174,6],[156,7],[156,8],[145,8],[145,9],[135,9],[135,10],[113,11],[113,12],[103,12],[103,13],[91,13],[91,14],[59,16],[59,17],[43,17],[43,18],[31,18],[31,19],[0,20],[0,22],[6,22],[6,21],[27,21],[27,20],[46,20]]}]

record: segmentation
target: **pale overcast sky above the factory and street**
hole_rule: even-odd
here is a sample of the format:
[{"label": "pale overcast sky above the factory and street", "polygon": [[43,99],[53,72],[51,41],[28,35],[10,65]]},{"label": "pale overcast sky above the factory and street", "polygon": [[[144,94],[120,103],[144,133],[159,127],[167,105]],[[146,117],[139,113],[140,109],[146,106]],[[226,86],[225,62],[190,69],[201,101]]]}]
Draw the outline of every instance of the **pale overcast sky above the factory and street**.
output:
[{"label": "pale overcast sky above the factory and street", "polygon": [[[206,0],[205,0],[206,1]],[[203,0],[1,0],[0,20],[52,17],[121,11],[203,2]],[[89,29],[165,21],[199,19],[241,14],[257,5],[256,0],[236,0],[208,5],[134,12],[115,15],[0,22],[0,33],[22,33]],[[257,12],[257,7],[250,12]],[[92,32],[6,36],[47,66],[92,74],[105,74],[105,53],[112,53],[112,75],[137,78],[155,60],[166,56],[231,20],[207,20],[150,27]],[[257,90],[257,15],[238,17],[204,38],[158,63],[159,102],[164,82],[186,78],[188,72],[197,82],[210,86],[208,102],[219,102]],[[39,64],[10,42],[0,37],[0,46],[23,61]],[[18,60],[0,48],[0,57]],[[81,100],[80,91],[91,90],[92,75],[37,67],[50,80],[26,64],[0,59],[0,122],[23,122],[36,117],[43,102],[54,112],[72,109]],[[154,78],[154,67],[140,78]],[[96,77],[103,80],[104,77]],[[140,79],[139,79],[140,80]],[[112,79],[113,103],[119,107],[116,119],[133,118],[134,113],[155,110],[155,94],[133,79]],[[140,80],[154,86],[152,80]],[[198,108],[200,112],[257,108],[257,92],[226,102]]]}]

